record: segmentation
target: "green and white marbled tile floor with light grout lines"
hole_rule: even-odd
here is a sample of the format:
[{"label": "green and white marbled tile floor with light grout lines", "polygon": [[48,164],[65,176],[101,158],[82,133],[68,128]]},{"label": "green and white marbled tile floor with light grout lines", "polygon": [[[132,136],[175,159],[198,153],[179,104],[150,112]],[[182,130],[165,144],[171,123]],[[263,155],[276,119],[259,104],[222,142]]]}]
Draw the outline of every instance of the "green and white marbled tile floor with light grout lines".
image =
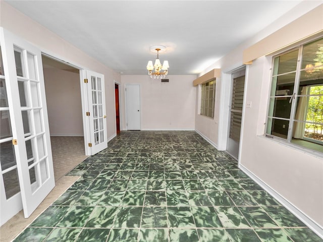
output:
[{"label": "green and white marbled tile floor with light grout lines", "polygon": [[193,131],[125,131],[15,242],[322,242]]}]

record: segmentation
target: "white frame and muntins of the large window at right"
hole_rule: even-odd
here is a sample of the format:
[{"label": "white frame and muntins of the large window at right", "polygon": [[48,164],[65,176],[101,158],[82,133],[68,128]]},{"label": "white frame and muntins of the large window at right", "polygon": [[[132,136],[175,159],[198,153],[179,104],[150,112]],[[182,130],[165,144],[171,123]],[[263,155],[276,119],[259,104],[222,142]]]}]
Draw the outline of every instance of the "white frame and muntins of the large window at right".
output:
[{"label": "white frame and muntins of the large window at right", "polygon": [[[304,121],[302,120],[299,120],[296,118],[296,109],[297,109],[297,105],[298,105],[298,99],[300,97],[303,97],[304,95],[302,94],[299,94],[299,88],[300,88],[300,82],[301,82],[301,73],[302,71],[305,71],[306,68],[302,68],[302,62],[303,62],[303,47],[306,46],[307,44],[310,44],[310,43],[313,43],[315,41],[318,41],[318,40],[321,40],[323,39],[323,36],[319,36],[319,37],[316,37],[316,38],[312,38],[312,39],[307,39],[301,43],[299,43],[297,46],[290,46],[288,49],[284,48],[284,51],[281,51],[281,52],[276,52],[275,55],[272,55],[271,56],[271,72],[270,72],[270,86],[269,86],[269,90],[268,90],[268,100],[267,100],[267,111],[266,111],[266,121],[265,121],[265,127],[264,127],[264,136],[267,137],[267,138],[274,138],[274,139],[277,139],[278,141],[282,141],[284,142],[285,144],[288,144],[288,145],[291,145],[291,146],[297,146],[298,148],[300,149],[305,149],[305,150],[310,150],[311,152],[314,152],[314,153],[319,153],[320,155],[323,154],[323,152],[320,152],[319,150],[313,150],[313,149],[310,149],[310,148],[307,148],[306,146],[303,146],[303,145],[299,145],[299,144],[295,144],[294,142],[292,142],[292,139],[293,139],[293,129],[294,129],[294,123],[295,122],[302,122],[304,123],[304,126],[305,124],[307,123],[306,122],[306,118]],[[296,65],[296,70],[295,71],[289,71],[289,72],[285,72],[285,73],[281,73],[281,74],[275,74],[274,75],[274,71],[275,71],[275,58],[277,57],[280,57],[280,56],[283,56],[287,53],[291,53],[295,50],[298,50],[298,55],[297,55],[297,65]],[[269,57],[269,56],[268,56]],[[279,64],[278,64],[278,67],[279,67]],[[294,84],[293,84],[293,92],[292,93],[289,93],[288,95],[285,95],[283,97],[286,97],[291,101],[291,110],[290,110],[290,115],[288,118],[283,118],[283,117],[276,117],[274,114],[272,115],[269,115],[270,114],[270,109],[271,109],[271,105],[275,106],[276,105],[276,101],[275,99],[276,98],[279,98],[279,95],[277,96],[276,94],[276,91],[277,91],[277,84],[276,84],[276,89],[275,89],[275,94],[273,94],[274,90],[273,90],[273,81],[274,81],[274,77],[279,77],[279,76],[283,76],[283,75],[286,75],[286,74],[291,74],[291,73],[295,73],[295,79],[294,79]],[[276,80],[277,82],[277,80]],[[315,84],[315,85],[319,85],[319,84]],[[313,85],[308,85],[309,87],[313,86]],[[307,96],[307,98],[309,98],[310,94],[306,94],[305,96]],[[272,101],[271,99],[274,98],[274,101]],[[308,105],[308,101],[307,101],[307,105]],[[307,109],[307,108],[306,108]],[[282,137],[279,137],[277,135],[273,135],[271,134],[272,133],[272,129],[270,132],[268,132],[268,126],[272,126],[273,123],[272,122],[269,122],[269,119],[272,119],[272,122],[273,120],[276,118],[276,119],[281,119],[281,120],[288,120],[288,133],[287,133],[287,138],[282,138]],[[304,134],[303,134],[303,139],[304,141],[308,141],[308,142],[311,142],[311,143],[316,143],[318,145],[321,145],[322,148],[323,148],[323,143],[321,141],[317,141],[315,142],[316,140],[313,141],[313,139],[310,139],[310,138],[307,138],[307,137],[304,137]]]}]

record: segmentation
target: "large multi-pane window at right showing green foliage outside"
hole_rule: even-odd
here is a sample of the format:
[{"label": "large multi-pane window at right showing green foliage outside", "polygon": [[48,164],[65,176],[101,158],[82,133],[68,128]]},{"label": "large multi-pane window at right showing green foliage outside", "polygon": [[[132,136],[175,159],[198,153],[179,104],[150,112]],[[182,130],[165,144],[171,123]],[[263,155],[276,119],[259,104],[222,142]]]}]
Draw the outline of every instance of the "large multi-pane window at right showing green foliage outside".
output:
[{"label": "large multi-pane window at right showing green foliage outside", "polygon": [[274,56],[266,134],[323,152],[323,38]]}]

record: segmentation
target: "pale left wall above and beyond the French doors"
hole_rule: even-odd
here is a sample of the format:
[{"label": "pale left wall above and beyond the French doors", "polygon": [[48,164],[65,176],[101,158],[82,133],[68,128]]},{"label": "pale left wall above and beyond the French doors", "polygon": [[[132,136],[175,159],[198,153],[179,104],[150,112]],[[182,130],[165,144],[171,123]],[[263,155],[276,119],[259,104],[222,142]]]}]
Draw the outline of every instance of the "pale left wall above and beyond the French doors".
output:
[{"label": "pale left wall above and beyond the French doors", "polygon": [[120,81],[120,74],[107,68],[4,1],[1,1],[0,4],[0,25],[2,27],[35,45],[43,53],[62,59],[79,68],[104,75],[107,137],[108,139],[114,137],[116,134],[114,80]]}]

